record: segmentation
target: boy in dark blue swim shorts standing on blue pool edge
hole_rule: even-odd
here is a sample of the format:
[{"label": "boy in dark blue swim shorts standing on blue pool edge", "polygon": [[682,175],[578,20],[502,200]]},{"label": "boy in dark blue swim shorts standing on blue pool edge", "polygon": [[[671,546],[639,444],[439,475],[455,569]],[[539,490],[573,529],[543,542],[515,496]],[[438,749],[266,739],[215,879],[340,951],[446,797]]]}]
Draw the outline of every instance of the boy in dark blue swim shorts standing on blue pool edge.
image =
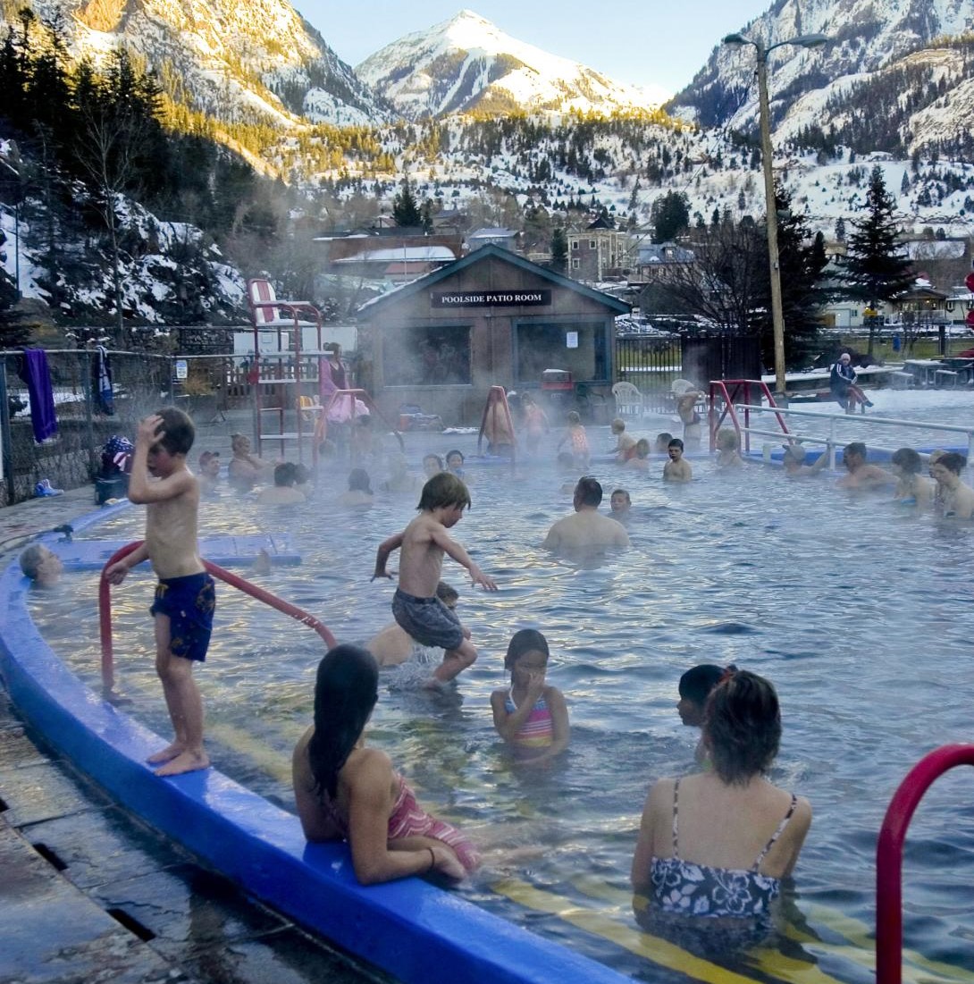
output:
[{"label": "boy in dark blue swim shorts standing on blue pool edge", "polygon": [[147,507],[146,540],[105,572],[110,584],[121,584],[133,567],[149,560],[159,579],[150,609],[155,620],[155,671],[175,738],[149,757],[151,765],[159,766],[156,775],[210,766],[193,662],[206,658],[216,598],[197,544],[200,483],[186,466],[195,436],[193,421],[172,406],[140,422],[129,499]]}]

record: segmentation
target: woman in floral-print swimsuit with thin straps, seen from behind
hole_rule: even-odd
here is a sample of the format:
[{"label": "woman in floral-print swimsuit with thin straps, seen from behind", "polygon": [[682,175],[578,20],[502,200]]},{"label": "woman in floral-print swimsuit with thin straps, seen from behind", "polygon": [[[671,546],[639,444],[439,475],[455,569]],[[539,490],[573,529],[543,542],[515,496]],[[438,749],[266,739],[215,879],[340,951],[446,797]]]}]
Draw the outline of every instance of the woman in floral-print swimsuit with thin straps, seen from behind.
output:
[{"label": "woman in floral-print swimsuit with thin straps, seen from behind", "polygon": [[765,922],[812,823],[808,800],[764,777],[780,739],[774,688],[729,669],[703,715],[713,768],[659,779],[646,797],[632,882],[647,912]]}]

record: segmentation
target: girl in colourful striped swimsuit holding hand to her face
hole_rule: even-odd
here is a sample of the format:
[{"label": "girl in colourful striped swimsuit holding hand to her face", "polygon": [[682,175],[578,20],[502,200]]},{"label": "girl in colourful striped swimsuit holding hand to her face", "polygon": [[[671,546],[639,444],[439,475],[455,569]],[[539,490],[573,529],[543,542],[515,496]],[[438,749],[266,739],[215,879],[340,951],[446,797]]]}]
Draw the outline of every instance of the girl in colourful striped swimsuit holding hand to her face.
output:
[{"label": "girl in colourful striped swimsuit holding hand to her face", "polygon": [[536,629],[521,629],[504,657],[511,686],[490,696],[497,733],[530,762],[553,759],[569,743],[568,707],[562,692],[545,683],[547,667],[548,641]]}]

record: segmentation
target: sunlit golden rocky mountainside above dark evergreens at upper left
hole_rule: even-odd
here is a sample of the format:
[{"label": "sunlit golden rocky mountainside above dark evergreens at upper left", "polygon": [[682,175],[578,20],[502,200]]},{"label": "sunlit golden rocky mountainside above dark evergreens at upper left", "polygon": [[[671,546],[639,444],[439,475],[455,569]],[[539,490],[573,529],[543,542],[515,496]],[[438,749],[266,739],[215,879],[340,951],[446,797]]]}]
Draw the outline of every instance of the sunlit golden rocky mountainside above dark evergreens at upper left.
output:
[{"label": "sunlit golden rocky mountainside above dark evergreens at upper left", "polygon": [[[167,94],[227,122],[367,125],[394,114],[287,0],[27,0],[72,50],[141,54]],[[24,4],[18,4],[18,7]],[[303,117],[303,119],[302,119]]]}]

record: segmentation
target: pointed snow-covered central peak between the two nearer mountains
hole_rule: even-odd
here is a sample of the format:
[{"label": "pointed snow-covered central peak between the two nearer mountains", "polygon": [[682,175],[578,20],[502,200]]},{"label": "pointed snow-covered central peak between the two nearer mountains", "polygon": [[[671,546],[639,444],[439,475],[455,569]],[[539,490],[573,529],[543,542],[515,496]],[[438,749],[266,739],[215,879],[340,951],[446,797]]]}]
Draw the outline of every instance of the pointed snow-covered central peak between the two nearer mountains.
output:
[{"label": "pointed snow-covered central peak between the two nearer mountains", "polygon": [[478,110],[566,112],[649,109],[668,95],[627,86],[500,31],[469,10],[428,31],[406,34],[355,72],[403,116],[422,119]]}]

